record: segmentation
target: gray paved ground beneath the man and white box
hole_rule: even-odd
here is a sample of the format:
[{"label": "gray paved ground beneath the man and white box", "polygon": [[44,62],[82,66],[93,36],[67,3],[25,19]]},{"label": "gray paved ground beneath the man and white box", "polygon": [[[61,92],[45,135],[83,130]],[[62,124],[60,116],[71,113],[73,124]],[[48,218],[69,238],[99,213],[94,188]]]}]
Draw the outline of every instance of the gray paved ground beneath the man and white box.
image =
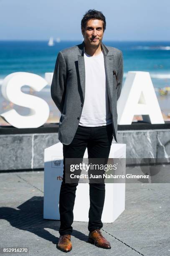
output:
[{"label": "gray paved ground beneath the man and white box", "polygon": [[[170,173],[170,165],[163,168]],[[31,256],[66,255],[56,248],[60,222],[43,219],[43,174],[0,173],[0,248],[29,247],[25,255]],[[126,184],[124,212],[102,228],[110,250],[86,243],[87,226],[74,221],[73,249],[67,255],[170,255],[170,184]]]}]

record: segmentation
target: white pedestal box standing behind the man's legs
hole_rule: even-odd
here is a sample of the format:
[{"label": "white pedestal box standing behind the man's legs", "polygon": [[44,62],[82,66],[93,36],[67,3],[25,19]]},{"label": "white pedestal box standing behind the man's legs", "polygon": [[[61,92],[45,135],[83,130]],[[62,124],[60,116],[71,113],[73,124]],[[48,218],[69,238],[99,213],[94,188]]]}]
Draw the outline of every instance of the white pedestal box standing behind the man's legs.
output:
[{"label": "white pedestal box standing behind the man's legs", "polygon": [[[88,158],[87,149],[84,158]],[[109,158],[126,158],[126,144],[112,143]],[[126,176],[126,165],[121,174]],[[118,174],[118,173],[117,173]],[[59,194],[63,177],[63,144],[44,150],[44,219],[60,220]],[[105,201],[101,221],[112,223],[125,208],[125,183],[105,182]],[[89,221],[89,183],[79,183],[76,189],[74,221]]]}]

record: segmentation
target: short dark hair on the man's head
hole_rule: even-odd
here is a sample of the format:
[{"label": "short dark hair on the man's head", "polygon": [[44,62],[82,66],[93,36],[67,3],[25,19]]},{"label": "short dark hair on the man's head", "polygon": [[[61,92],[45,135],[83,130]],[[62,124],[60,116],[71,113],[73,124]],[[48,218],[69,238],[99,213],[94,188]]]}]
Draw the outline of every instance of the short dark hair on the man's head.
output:
[{"label": "short dark hair on the man's head", "polygon": [[88,20],[102,20],[103,21],[103,30],[106,29],[106,19],[103,15],[103,13],[97,11],[97,10],[88,10],[85,15],[83,16],[81,20],[81,29],[86,28],[86,23]]}]

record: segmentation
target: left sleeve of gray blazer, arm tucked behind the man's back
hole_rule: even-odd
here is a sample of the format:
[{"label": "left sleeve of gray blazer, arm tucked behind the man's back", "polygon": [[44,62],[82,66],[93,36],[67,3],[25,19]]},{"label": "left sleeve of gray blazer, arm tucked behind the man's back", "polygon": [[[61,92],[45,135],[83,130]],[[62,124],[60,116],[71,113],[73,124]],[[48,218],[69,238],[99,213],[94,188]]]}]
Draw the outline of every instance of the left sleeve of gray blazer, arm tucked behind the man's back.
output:
[{"label": "left sleeve of gray blazer, arm tucked behind the man's back", "polygon": [[58,53],[51,83],[51,97],[62,113],[66,93],[66,61],[61,51]]}]

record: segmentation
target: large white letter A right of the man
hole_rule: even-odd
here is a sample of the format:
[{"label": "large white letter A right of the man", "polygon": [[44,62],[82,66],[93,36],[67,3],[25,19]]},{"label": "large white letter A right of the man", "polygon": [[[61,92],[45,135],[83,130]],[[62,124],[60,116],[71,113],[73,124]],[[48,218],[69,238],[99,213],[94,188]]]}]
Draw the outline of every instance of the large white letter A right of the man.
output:
[{"label": "large white letter A right of the man", "polygon": [[131,71],[117,102],[118,124],[129,125],[134,115],[152,124],[165,123],[149,72]]}]

